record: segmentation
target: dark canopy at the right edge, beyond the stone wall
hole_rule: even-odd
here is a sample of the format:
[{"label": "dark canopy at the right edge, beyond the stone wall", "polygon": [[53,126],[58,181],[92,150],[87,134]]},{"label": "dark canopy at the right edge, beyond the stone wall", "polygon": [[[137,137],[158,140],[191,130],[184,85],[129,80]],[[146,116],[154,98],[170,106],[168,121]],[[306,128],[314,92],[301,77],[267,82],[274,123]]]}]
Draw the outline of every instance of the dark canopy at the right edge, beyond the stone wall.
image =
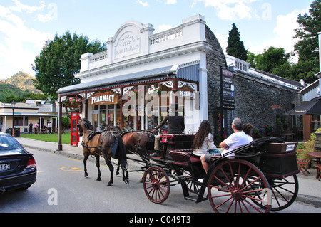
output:
[{"label": "dark canopy at the right edge, beyond the stone wall", "polygon": [[321,97],[315,97],[309,102],[285,112],[285,115],[321,115]]}]

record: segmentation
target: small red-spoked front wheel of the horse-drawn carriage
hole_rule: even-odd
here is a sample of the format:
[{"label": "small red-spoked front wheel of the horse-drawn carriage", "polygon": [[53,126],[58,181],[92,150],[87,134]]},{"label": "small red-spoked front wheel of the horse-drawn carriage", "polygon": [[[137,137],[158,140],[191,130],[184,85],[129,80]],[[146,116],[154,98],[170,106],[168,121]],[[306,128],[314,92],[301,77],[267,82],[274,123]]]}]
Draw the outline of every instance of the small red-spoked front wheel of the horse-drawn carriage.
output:
[{"label": "small red-spoked front wheel of the horse-drawn carriage", "polygon": [[153,203],[161,204],[170,193],[170,181],[161,167],[149,167],[143,176],[143,187],[146,196]]}]

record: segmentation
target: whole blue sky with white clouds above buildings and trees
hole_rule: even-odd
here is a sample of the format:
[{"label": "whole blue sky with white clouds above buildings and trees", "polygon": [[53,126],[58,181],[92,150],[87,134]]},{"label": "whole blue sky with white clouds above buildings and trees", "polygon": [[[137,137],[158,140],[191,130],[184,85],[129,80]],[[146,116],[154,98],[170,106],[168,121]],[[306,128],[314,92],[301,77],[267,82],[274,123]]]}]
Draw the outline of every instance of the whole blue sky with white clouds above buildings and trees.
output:
[{"label": "whole blue sky with white clouds above buildings and trees", "polygon": [[[151,23],[155,31],[180,26],[201,14],[225,51],[232,23],[245,48],[255,54],[270,46],[293,51],[297,16],[313,0],[0,0],[0,80],[23,71],[56,34],[106,42],[126,21]],[[296,59],[293,58],[295,63]]]}]

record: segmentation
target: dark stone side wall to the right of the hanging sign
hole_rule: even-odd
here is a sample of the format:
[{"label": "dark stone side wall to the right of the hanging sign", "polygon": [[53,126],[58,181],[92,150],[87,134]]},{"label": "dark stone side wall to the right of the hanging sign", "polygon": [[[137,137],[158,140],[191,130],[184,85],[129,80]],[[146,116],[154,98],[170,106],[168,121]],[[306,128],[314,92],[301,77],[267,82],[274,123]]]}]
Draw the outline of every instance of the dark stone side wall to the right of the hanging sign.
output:
[{"label": "dark stone side wall to the right of the hanging sign", "polygon": [[[234,85],[234,117],[240,117],[245,123],[250,122],[263,133],[265,125],[272,125],[277,131],[277,118],[281,118],[283,127],[292,130],[292,116],[284,113],[292,110],[293,102],[300,105],[300,95],[295,90],[267,85],[260,80],[244,78],[239,73],[235,73]],[[300,118],[296,119],[297,127],[300,127]]]}]

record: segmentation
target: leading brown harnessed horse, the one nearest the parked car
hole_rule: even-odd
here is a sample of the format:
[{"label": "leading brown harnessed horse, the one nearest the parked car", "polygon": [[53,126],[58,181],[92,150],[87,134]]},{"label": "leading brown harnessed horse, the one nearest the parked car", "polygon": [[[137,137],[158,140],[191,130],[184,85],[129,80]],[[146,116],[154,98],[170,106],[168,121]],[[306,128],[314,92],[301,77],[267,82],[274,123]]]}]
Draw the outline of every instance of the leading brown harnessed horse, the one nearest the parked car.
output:
[{"label": "leading brown harnessed horse, the one nearest the parked car", "polygon": [[[83,136],[83,165],[85,176],[88,176],[86,162],[89,155],[96,157],[96,167],[98,169],[97,181],[101,180],[101,171],[99,157],[103,157],[109,170],[111,171],[111,179],[108,186],[113,184],[113,164],[111,157],[118,159],[123,169],[123,181],[128,184],[128,171],[126,169],[126,148],[123,145],[122,139],[119,135],[113,132],[96,132],[91,122],[86,119],[79,120],[78,125],[79,135]],[[114,152],[112,152],[114,151]],[[114,154],[112,154],[114,153]]]}]

